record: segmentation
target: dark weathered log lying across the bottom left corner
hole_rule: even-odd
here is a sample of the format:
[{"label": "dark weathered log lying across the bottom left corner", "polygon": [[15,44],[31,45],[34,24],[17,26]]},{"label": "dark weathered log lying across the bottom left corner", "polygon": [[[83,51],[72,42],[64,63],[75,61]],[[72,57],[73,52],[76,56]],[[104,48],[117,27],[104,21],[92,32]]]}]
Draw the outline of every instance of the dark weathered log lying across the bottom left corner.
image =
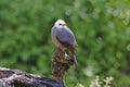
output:
[{"label": "dark weathered log lying across the bottom left corner", "polygon": [[65,87],[61,80],[0,67],[0,87]]}]

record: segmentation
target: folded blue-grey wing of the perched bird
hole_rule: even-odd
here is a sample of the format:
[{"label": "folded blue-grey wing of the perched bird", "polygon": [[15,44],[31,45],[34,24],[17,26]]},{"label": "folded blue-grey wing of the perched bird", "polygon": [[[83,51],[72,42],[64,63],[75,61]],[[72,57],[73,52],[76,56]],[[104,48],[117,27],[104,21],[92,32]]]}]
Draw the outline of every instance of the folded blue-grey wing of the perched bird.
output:
[{"label": "folded blue-grey wing of the perched bird", "polygon": [[67,29],[62,29],[57,32],[56,39],[66,48],[68,49],[75,49],[75,36],[72,32]]}]

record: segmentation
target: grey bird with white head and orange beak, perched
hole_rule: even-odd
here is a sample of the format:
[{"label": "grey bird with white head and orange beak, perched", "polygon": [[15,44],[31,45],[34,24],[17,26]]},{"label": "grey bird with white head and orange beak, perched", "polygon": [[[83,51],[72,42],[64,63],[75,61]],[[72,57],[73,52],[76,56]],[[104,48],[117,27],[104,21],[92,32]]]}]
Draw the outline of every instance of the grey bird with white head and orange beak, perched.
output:
[{"label": "grey bird with white head and orange beak, perched", "polygon": [[74,64],[78,70],[78,62],[76,59],[77,41],[74,33],[67,27],[67,24],[63,20],[57,20],[51,29],[52,40],[58,50],[68,50]]}]

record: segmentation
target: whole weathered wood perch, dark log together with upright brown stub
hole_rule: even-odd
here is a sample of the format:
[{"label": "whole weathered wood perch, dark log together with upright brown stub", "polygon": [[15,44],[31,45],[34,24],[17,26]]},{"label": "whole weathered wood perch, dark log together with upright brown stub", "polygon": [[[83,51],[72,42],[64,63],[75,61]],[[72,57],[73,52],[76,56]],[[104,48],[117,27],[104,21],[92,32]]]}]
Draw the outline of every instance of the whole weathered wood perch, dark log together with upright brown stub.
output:
[{"label": "whole weathered wood perch, dark log together with upright brown stub", "polygon": [[57,50],[52,58],[52,77],[32,75],[20,70],[0,67],[0,87],[65,87],[65,72],[74,61],[65,52]]}]

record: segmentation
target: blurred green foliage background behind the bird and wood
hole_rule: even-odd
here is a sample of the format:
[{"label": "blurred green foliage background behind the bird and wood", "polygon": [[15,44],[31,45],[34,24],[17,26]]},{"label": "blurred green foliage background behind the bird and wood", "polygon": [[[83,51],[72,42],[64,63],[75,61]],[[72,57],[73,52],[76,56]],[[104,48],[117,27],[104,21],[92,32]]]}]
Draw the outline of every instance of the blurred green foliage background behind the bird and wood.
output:
[{"label": "blurred green foliage background behind the bird and wood", "polygon": [[51,77],[58,18],[78,42],[79,72],[66,73],[68,87],[89,87],[96,75],[130,87],[130,0],[0,0],[0,66]]}]

